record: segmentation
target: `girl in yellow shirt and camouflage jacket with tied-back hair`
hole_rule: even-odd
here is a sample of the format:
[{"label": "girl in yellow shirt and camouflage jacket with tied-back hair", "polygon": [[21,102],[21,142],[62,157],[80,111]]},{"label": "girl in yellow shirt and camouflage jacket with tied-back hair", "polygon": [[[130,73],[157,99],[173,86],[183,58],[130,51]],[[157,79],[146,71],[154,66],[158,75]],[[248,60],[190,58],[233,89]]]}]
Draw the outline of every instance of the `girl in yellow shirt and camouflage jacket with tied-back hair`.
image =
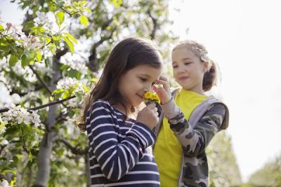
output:
[{"label": "girl in yellow shirt and camouflage jacket with tied-back hair", "polygon": [[156,82],[163,87],[153,87],[165,116],[155,128],[161,186],[209,186],[205,150],[214,135],[228,127],[228,107],[204,95],[216,83],[216,66],[204,46],[183,41],[172,50],[172,67],[181,88],[170,92],[164,77]]}]

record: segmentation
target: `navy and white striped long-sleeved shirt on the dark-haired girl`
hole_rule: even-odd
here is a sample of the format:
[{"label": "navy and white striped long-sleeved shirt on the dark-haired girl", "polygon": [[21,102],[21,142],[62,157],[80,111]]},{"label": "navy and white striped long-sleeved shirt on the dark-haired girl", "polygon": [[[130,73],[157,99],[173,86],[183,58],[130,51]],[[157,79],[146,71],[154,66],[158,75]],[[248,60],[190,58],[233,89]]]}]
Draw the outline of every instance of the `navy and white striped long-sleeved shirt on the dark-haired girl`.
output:
[{"label": "navy and white striped long-sleeved shirt on the dark-haired girl", "polygon": [[108,102],[93,103],[88,111],[91,186],[159,187],[159,172],[151,145],[156,136],[149,127],[125,115]]}]

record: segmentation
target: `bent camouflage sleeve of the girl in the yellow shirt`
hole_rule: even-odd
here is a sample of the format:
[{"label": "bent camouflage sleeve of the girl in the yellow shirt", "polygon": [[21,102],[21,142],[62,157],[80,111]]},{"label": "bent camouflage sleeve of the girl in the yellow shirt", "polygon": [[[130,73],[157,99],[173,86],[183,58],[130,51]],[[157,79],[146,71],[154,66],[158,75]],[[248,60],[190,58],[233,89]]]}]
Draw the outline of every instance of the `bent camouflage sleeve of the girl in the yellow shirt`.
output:
[{"label": "bent camouflage sleeve of the girl in the yellow shirt", "polygon": [[177,135],[185,155],[194,157],[205,150],[220,129],[225,113],[223,104],[214,104],[195,125],[190,125],[181,111],[169,119],[171,130]]}]

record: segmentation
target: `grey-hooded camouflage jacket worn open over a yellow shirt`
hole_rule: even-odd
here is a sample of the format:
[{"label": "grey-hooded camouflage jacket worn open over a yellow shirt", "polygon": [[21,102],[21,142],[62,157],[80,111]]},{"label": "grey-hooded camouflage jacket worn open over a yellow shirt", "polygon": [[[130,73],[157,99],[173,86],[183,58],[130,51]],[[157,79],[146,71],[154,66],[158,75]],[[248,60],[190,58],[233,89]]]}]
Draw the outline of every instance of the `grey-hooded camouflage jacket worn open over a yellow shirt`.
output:
[{"label": "grey-hooded camouflage jacket worn open over a yellow shirt", "polygon": [[[228,127],[228,107],[215,97],[208,97],[192,111],[188,121],[174,99],[162,109],[161,122],[155,127],[155,134],[158,134],[162,119],[166,116],[183,148],[178,187],[209,186],[205,149],[218,131]],[[172,113],[176,116],[169,118]]]}]

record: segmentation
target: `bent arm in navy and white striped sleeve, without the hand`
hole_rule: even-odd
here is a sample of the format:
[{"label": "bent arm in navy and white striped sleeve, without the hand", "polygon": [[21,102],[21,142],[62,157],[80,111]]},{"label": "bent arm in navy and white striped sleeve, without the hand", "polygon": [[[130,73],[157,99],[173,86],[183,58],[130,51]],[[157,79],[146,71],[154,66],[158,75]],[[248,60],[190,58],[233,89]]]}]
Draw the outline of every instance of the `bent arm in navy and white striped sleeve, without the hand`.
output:
[{"label": "bent arm in navy and white striped sleeve, without the hand", "polygon": [[117,181],[136,165],[156,137],[146,125],[135,123],[121,141],[121,134],[117,132],[119,124],[115,123],[117,119],[112,112],[106,102],[95,102],[86,125],[89,144],[103,174]]}]

